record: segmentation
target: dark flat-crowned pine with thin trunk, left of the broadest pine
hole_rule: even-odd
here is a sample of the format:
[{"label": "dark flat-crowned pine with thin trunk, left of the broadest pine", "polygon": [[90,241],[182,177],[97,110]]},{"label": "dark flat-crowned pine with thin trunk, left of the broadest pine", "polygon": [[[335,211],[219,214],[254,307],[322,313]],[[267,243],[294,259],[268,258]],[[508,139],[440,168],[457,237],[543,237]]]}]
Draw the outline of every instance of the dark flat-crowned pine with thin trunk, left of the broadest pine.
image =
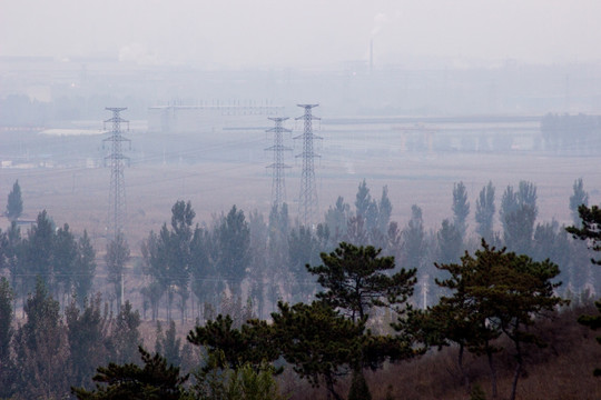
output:
[{"label": "dark flat-crowned pine with thin trunk, left of the broadest pine", "polygon": [[[388,307],[403,314],[416,283],[415,269],[401,269],[392,273],[395,268],[394,258],[380,257],[381,252],[381,249],[376,250],[372,246],[356,247],[342,242],[329,254],[322,253],[322,266],[307,266],[307,270],[317,276],[317,282],[325,289],[317,293],[317,298],[358,328],[364,327],[370,313],[378,307]],[[397,339],[373,337],[371,332],[363,333],[361,330],[349,361],[355,378],[363,378],[364,367],[376,369],[386,359],[411,357],[413,352],[407,341]],[[324,378],[327,386],[329,378]],[[366,384],[364,380],[363,384]],[[331,387],[328,390],[332,392]],[[357,393],[362,392],[359,387],[356,390]]]}]

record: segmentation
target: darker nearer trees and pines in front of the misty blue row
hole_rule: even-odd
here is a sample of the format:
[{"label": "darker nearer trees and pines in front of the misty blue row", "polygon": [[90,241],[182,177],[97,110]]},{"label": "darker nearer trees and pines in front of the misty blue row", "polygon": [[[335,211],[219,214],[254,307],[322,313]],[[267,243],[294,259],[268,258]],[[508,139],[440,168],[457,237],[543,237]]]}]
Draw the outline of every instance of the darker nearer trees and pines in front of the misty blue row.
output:
[{"label": "darker nearer trees and pines in front of the misty blue row", "polygon": [[[543,344],[543,337],[532,328],[568,303],[554,294],[558,266],[496,250],[483,241],[461,263],[436,268],[450,274],[436,282],[446,296],[427,310],[415,310],[408,302],[417,282],[415,269],[398,269],[394,257],[383,257],[371,246],[342,242],[322,254],[319,266],[307,266],[319,283],[317,300],[280,301],[270,321],[247,316],[240,324],[219,314],[197,324],[186,344],[177,339],[174,321],[165,333],[158,324],[154,354],[144,349],[140,317],[129,302],[112,316],[99,297],[86,301],[82,309],[72,301],[61,317],[58,301],[41,279],[27,299],[27,322],[13,331],[12,292],[2,278],[0,396],[282,399],[276,377],[292,369],[338,400],[346,398],[338,380],[352,376],[348,399],[371,399],[365,371],[408,361],[432,347],[454,344],[461,349],[460,367],[463,351],[486,354],[494,397],[500,362],[495,360],[500,352],[514,356],[514,399],[526,356]],[[387,310],[391,318],[377,321],[378,310]],[[180,371],[190,371],[193,378]],[[460,379],[464,382],[465,377]],[[464,384],[472,394],[481,390]]]}]

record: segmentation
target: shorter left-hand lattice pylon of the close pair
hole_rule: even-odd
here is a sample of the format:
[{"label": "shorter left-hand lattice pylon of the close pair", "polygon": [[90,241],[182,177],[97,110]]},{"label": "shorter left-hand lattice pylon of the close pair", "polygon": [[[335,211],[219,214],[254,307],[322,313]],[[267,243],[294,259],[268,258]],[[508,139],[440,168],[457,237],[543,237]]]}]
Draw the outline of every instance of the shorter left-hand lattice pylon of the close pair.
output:
[{"label": "shorter left-hand lattice pylon of the close pair", "polygon": [[290,148],[284,146],[284,133],[292,132],[292,130],[283,127],[283,122],[288,119],[287,117],[269,117],[269,119],[275,122],[274,128],[266,130],[266,132],[274,133],[274,146],[265,149],[274,152],[274,162],[267,166],[272,169],[272,207],[280,208],[286,201],[284,170],[290,168],[284,163],[284,151],[292,151]]}]

